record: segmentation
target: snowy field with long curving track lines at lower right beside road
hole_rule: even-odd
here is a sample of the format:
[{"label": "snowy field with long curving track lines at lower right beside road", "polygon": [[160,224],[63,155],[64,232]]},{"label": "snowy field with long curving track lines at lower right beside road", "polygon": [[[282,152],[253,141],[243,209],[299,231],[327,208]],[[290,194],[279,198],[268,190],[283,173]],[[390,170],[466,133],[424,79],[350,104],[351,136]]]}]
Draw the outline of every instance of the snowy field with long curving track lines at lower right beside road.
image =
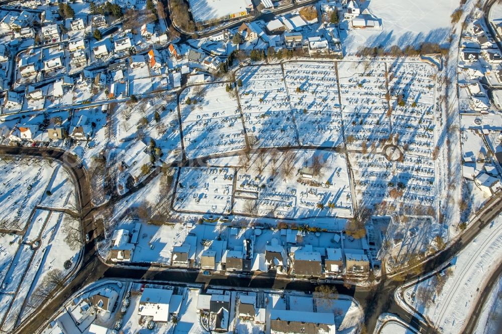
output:
[{"label": "snowy field with long curving track lines at lower right beside road", "polygon": [[482,229],[452,266],[405,291],[405,300],[445,334],[459,333],[483,282],[502,259],[502,216]]}]

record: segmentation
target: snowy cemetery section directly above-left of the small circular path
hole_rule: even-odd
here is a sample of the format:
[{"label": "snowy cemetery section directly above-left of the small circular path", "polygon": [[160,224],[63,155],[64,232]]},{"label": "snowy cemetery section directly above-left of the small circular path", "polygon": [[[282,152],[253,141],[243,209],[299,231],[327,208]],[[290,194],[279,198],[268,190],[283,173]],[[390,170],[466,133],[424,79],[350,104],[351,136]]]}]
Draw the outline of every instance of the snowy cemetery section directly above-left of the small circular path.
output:
[{"label": "snowy cemetery section directly above-left of the small circular path", "polygon": [[391,124],[386,113],[386,64],[339,62],[340,97],[348,148],[375,145],[388,138]]}]

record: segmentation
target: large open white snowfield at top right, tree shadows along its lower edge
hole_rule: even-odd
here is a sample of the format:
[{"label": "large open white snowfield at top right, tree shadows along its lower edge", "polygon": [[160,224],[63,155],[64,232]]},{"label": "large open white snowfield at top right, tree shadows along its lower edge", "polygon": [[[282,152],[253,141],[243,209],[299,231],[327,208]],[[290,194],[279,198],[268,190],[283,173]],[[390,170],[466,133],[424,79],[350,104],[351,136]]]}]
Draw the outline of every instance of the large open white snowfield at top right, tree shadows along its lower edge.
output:
[{"label": "large open white snowfield at top right, tree shadows along its lower edge", "polygon": [[362,5],[382,20],[383,30],[350,30],[342,34],[344,53],[360,47],[418,47],[423,42],[445,45],[450,37],[450,15],[458,0],[371,0]]}]

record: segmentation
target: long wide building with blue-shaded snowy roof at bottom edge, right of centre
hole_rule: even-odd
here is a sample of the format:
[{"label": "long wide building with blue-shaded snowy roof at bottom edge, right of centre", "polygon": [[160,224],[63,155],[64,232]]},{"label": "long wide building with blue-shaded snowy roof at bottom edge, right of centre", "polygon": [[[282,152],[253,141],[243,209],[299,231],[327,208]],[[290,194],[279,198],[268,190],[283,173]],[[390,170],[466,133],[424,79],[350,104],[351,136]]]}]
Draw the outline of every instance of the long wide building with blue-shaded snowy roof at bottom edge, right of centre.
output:
[{"label": "long wide building with blue-shaded snowy roof at bottom edge, right of centre", "polygon": [[335,315],[333,312],[272,309],[270,311],[270,333],[335,334]]}]

